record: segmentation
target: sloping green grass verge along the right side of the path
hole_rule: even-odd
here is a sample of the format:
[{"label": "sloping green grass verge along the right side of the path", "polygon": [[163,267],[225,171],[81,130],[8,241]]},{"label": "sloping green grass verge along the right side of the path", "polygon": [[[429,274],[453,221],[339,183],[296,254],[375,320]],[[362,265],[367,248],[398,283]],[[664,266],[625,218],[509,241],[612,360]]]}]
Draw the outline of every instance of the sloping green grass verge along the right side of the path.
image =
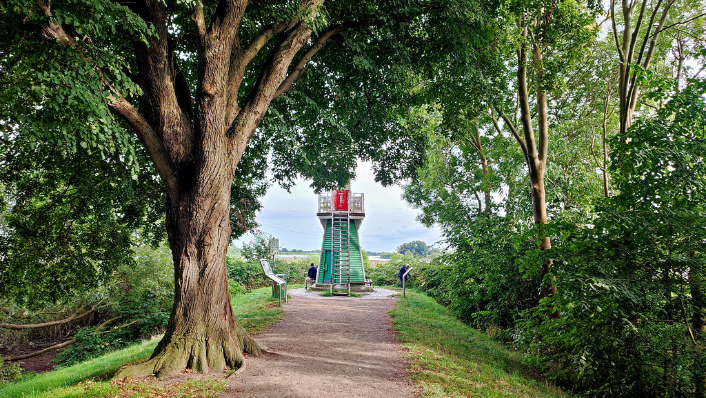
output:
[{"label": "sloping green grass verge along the right side of the path", "polygon": [[390,315],[422,397],[568,397],[426,295],[408,290]]}]

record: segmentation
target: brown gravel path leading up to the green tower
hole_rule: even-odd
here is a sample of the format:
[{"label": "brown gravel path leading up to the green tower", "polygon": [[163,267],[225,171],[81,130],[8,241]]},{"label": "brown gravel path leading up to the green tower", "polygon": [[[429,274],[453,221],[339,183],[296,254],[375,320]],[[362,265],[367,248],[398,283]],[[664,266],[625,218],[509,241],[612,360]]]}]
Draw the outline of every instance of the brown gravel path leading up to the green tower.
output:
[{"label": "brown gravel path leading up to the green tower", "polygon": [[250,357],[223,398],[414,397],[388,311],[393,291],[322,298],[289,291],[285,317],[256,340],[273,353]]}]

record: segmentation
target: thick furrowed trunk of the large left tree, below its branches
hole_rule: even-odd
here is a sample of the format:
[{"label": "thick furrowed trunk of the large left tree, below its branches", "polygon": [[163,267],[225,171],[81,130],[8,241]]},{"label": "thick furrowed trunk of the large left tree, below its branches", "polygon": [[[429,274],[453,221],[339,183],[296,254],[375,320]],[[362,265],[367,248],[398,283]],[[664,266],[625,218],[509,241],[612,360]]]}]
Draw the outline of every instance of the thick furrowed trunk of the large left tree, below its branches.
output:
[{"label": "thick furrowed trunk of the large left tree, below its branches", "polygon": [[167,377],[191,368],[220,372],[239,368],[243,352],[263,349],[236,322],[230,303],[226,253],[230,240],[229,160],[204,162],[191,187],[167,203],[167,233],[174,259],[174,306],[164,337],[146,363],[116,377]]}]

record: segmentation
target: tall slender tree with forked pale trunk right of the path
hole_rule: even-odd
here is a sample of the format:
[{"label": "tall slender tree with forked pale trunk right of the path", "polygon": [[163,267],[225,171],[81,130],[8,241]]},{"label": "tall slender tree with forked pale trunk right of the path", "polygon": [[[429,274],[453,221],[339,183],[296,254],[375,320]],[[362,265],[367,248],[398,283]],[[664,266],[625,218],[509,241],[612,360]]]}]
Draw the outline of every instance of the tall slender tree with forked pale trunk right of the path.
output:
[{"label": "tall slender tree with forked pale trunk right of the path", "polygon": [[[580,54],[582,43],[592,36],[590,13],[587,8],[570,1],[554,2],[549,6],[530,1],[527,4],[508,6],[508,16],[517,23],[515,88],[520,125],[517,126],[517,122],[513,121],[503,107],[498,107],[497,112],[525,156],[532,189],[534,223],[541,226],[549,221],[544,183],[550,136],[547,95],[563,64],[575,59]],[[535,117],[536,129],[533,122]],[[539,249],[549,249],[551,238],[546,234],[540,238]],[[542,265],[544,297],[556,293],[554,277],[550,274],[551,263],[549,259]],[[556,310],[549,317],[558,315]]]}]

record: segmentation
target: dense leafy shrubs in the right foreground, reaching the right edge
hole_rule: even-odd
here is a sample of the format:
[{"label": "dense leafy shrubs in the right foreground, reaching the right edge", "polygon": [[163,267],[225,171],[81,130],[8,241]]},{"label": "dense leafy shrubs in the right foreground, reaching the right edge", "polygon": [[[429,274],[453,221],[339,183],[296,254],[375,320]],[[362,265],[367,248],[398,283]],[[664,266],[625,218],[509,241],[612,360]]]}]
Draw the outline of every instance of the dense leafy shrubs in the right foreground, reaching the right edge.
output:
[{"label": "dense leafy shrubs in the right foreground, reaching the right edge", "polygon": [[[618,194],[592,226],[558,223],[551,250],[560,295],[528,311],[517,344],[562,384],[595,397],[703,397],[706,82],[614,143]],[[548,231],[544,231],[547,233]],[[535,271],[536,272],[536,271]],[[561,320],[541,322],[546,308]]]}]

